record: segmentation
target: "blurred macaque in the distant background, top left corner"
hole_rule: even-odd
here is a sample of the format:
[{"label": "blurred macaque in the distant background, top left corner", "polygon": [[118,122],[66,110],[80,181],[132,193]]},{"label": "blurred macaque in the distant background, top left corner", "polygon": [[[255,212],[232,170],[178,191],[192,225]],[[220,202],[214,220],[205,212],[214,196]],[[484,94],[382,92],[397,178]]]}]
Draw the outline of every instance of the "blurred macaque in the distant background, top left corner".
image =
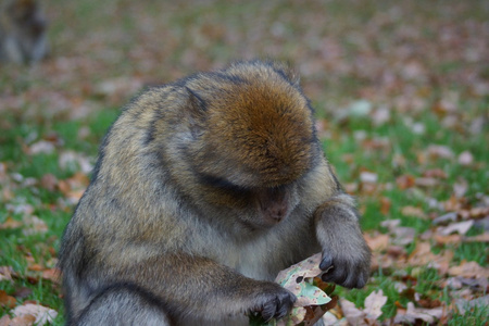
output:
[{"label": "blurred macaque in the distant background, top left corner", "polygon": [[36,63],[48,53],[47,20],[38,0],[2,0],[0,62]]}]

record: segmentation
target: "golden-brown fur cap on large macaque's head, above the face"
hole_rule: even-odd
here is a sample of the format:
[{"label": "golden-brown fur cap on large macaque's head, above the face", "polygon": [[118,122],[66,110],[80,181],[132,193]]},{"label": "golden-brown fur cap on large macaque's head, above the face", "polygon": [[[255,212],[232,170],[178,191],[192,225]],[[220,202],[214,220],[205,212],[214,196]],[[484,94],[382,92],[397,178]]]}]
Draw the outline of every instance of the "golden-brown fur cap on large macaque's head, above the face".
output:
[{"label": "golden-brown fur cap on large macaque's head, above the face", "polygon": [[190,154],[197,171],[252,188],[289,184],[312,167],[312,110],[289,71],[238,63],[208,78],[188,84],[204,111]]}]

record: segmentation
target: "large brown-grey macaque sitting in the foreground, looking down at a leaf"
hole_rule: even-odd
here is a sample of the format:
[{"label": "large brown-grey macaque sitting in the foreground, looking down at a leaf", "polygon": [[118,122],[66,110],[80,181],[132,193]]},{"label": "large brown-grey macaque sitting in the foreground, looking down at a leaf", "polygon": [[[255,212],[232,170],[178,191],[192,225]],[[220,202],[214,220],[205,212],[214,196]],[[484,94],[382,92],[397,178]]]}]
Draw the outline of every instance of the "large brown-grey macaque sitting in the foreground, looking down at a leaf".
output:
[{"label": "large brown-grey macaque sitting in the foreground, looking down at a leaf", "polygon": [[246,325],[296,298],[277,273],[322,252],[362,288],[371,252],[299,79],[238,62],[153,87],[106,134],[60,252],[68,325]]}]

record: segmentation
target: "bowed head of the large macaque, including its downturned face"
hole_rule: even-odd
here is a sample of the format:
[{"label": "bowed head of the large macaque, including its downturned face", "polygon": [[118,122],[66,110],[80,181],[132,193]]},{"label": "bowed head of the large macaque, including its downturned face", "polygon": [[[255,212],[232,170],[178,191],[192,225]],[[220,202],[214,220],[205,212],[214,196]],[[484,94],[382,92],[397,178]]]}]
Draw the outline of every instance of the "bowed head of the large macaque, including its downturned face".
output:
[{"label": "bowed head of the large macaque, including its downturned face", "polygon": [[[275,63],[238,63],[188,82],[193,141],[187,158],[206,201],[244,224],[273,226],[293,210],[319,147],[298,79]],[[212,190],[211,190],[212,188]],[[253,209],[255,209],[254,212]]]}]

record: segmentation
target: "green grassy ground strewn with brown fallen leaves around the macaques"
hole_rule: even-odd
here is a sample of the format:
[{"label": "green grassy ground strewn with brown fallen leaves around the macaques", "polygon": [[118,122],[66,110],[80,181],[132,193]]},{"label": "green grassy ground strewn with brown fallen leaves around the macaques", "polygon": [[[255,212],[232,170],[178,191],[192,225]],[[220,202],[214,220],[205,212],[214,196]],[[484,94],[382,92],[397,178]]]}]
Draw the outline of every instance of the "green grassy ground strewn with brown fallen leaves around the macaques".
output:
[{"label": "green grassy ground strewn with brown fallen leaves around the macaques", "polygon": [[[487,3],[46,7],[50,58],[35,67],[0,66],[0,316],[36,302],[63,324],[52,277],[60,237],[101,138],[130,97],[233,60],[274,58],[300,73],[328,159],[358,197],[374,248],[367,287],[340,297],[363,309],[381,289],[388,299],[377,323],[393,323],[412,303],[443,312],[406,324],[487,325]],[[440,222],[447,214],[453,220]],[[461,309],[469,302],[476,306]]]}]

